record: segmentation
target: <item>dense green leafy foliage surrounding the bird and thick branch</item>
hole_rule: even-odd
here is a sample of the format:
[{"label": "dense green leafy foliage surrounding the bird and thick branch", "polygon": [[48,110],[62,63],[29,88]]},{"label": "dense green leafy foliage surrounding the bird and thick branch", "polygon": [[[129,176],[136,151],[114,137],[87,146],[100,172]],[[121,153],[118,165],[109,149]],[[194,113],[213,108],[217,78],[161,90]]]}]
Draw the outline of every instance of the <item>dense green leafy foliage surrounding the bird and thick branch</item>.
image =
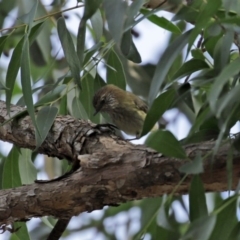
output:
[{"label": "dense green leafy foliage surrounding the bird and thick branch", "polygon": [[[234,126],[234,133],[239,132],[240,117],[240,1],[169,0],[154,9],[147,8],[151,3],[144,4],[144,0],[0,1],[0,98],[8,109],[10,103],[27,107],[37,146],[57,114],[108,121],[106,116],[93,117],[91,101],[97,89],[113,83],[149,103],[143,135],[171,110],[179,113],[171,121],[182,116],[189,121],[184,139],[163,129],[150,135],[146,144],[157,151],[184,158],[183,145],[209,139],[216,140],[213,157],[222,142],[234,140],[239,148],[232,133]],[[171,18],[162,15],[165,11],[173,13]],[[135,45],[145,31],[136,28],[142,21],[170,33],[166,47],[159,44],[156,49],[163,52],[157,63],[142,63]],[[154,32],[151,37],[156,37]],[[231,151],[229,190],[233,190]],[[62,239],[240,239],[239,189],[206,194],[198,176],[204,157],[199,154],[196,165],[182,169],[186,175],[194,174],[188,196],[173,193],[83,213],[72,219]],[[33,183],[37,177],[53,178],[68,168],[65,160],[1,142],[2,189]],[[17,223],[19,231],[5,232],[0,239],[45,239],[55,221],[44,217]]]}]

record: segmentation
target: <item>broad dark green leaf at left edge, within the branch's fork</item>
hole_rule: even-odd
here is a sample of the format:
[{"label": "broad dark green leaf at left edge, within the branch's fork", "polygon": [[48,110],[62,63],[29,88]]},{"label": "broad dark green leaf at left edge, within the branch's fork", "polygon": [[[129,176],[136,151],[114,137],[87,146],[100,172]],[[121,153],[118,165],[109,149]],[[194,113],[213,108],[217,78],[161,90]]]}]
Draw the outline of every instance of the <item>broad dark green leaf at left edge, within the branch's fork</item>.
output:
[{"label": "broad dark green leaf at left edge, within the branch's fork", "polygon": [[4,161],[2,173],[2,188],[14,188],[21,186],[21,178],[18,165],[19,152],[16,147],[12,147],[6,160]]}]

